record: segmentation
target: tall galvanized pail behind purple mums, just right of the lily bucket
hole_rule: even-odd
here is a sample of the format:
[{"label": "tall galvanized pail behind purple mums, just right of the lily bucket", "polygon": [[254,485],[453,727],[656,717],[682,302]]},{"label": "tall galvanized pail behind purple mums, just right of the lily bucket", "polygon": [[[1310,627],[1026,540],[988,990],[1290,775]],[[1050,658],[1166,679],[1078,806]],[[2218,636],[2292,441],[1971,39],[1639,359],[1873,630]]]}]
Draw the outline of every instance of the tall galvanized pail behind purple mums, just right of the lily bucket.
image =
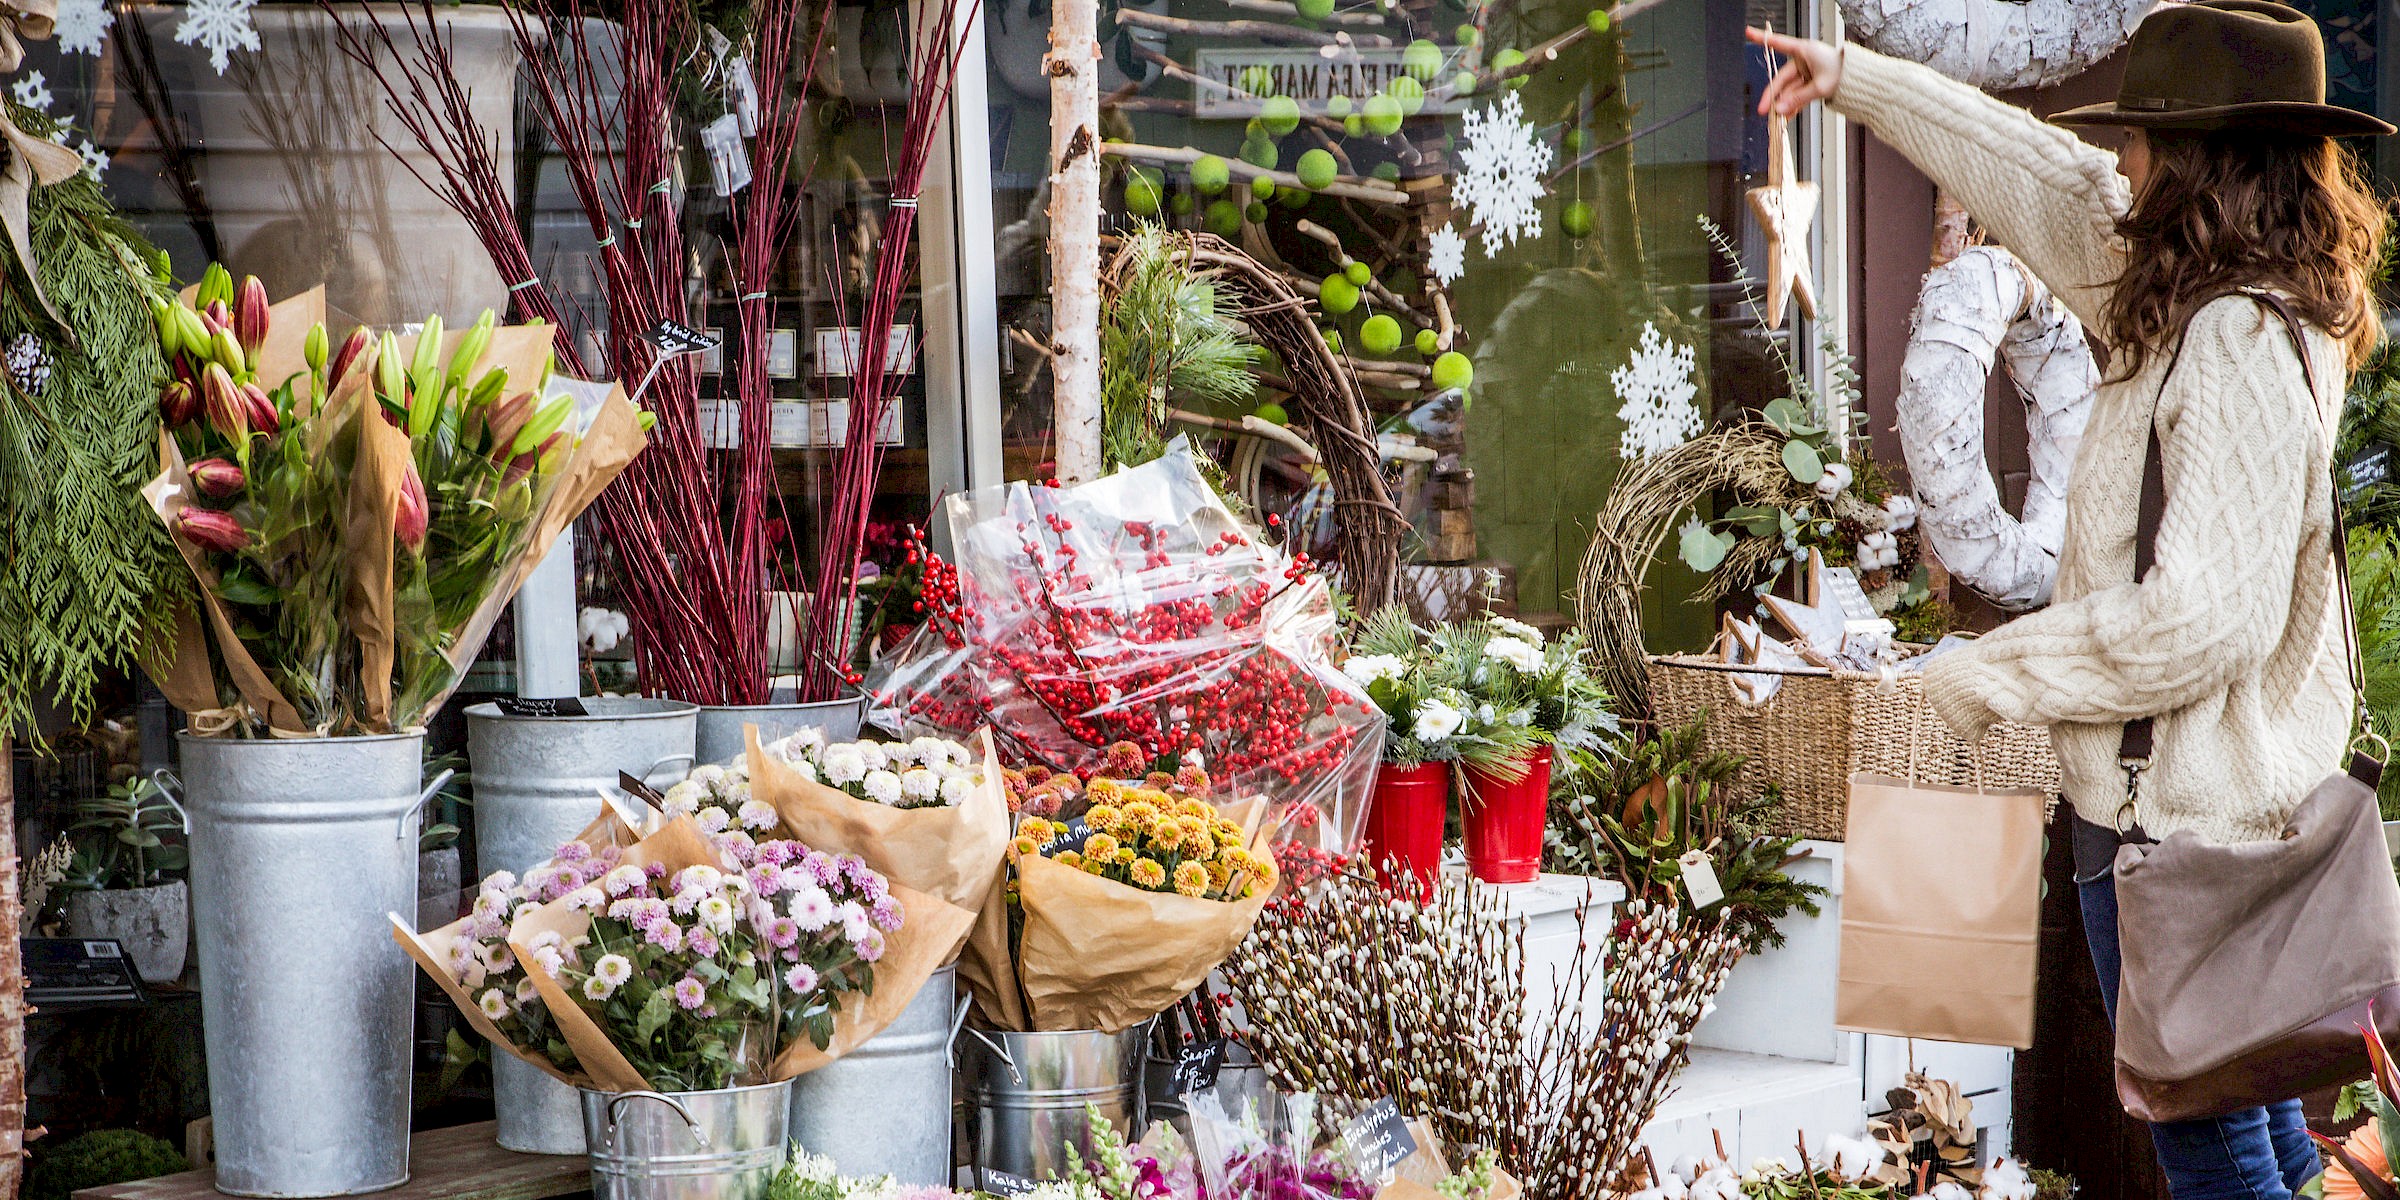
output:
[{"label": "tall galvanized pail behind purple mums, just right of the lily bucket", "polygon": [[[600,790],[617,773],[665,790],[691,768],[698,706],[586,696],[583,715],[509,715],[494,703],[466,710],[475,770],[475,869],[523,874],[590,826]],[[526,1154],[583,1154],[583,1102],[540,1068],[492,1054],[492,1111],[502,1147]]]}]

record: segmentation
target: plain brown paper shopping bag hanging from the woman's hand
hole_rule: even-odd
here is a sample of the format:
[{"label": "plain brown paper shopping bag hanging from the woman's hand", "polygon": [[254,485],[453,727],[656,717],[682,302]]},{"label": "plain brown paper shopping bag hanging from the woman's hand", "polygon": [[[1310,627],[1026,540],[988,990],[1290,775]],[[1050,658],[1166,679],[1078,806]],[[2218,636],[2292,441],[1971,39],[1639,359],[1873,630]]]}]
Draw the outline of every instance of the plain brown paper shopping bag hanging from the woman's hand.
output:
[{"label": "plain brown paper shopping bag hanging from the woman's hand", "polygon": [[2047,804],[2028,787],[1850,775],[1836,1027],[2033,1044]]}]

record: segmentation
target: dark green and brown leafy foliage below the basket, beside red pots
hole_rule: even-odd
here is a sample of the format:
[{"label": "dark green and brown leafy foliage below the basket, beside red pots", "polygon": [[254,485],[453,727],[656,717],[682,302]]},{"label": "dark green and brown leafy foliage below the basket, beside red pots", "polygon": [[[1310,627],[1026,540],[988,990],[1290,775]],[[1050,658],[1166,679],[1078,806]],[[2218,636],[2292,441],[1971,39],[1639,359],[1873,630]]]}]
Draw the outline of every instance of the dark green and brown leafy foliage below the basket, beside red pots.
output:
[{"label": "dark green and brown leafy foliage below the basket, beside red pots", "polygon": [[1550,792],[1548,869],[1608,876],[1632,898],[1690,905],[1682,859],[1706,850],[1726,890],[1718,912],[1745,953],[1783,946],[1776,922],[1817,917],[1826,890],[1793,878],[1798,838],[1771,833],[1781,792],[1735,794],[1745,758],[1709,754],[1706,713],[1634,739],[1615,758],[1572,754]]}]

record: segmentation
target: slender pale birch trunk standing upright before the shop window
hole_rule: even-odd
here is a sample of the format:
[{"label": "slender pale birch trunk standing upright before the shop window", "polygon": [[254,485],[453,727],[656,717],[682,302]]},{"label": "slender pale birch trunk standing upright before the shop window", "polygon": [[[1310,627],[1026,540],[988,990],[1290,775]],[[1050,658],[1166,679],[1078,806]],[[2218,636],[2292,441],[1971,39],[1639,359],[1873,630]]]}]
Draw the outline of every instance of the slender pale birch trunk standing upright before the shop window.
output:
[{"label": "slender pale birch trunk standing upright before the shop window", "polygon": [[1099,38],[1097,0],[1054,0],[1051,422],[1058,482],[1099,478]]}]

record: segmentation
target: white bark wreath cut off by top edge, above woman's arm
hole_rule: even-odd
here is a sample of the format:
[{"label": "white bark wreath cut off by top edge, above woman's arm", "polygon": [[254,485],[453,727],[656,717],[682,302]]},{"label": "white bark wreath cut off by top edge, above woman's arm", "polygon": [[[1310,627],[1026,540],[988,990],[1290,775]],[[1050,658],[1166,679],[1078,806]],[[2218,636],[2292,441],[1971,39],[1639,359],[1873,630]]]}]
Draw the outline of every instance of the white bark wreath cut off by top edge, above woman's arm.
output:
[{"label": "white bark wreath cut off by top edge, above woman's arm", "polygon": [[1850,34],[1990,91],[2047,86],[2124,46],[2158,0],[1841,0]]}]

